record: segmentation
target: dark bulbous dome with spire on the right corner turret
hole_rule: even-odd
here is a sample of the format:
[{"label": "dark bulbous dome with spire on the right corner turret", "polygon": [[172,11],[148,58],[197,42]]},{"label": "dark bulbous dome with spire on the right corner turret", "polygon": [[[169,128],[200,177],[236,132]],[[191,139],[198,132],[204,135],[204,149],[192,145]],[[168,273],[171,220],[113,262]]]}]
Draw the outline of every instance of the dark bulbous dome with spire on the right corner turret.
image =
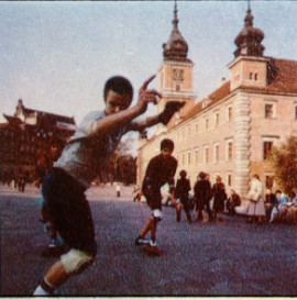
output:
[{"label": "dark bulbous dome with spire on the right corner turret", "polygon": [[261,44],[264,38],[264,33],[262,30],[253,26],[252,11],[249,9],[244,19],[244,27],[235,38],[235,44],[238,49],[234,52],[234,56],[263,56],[265,47]]}]

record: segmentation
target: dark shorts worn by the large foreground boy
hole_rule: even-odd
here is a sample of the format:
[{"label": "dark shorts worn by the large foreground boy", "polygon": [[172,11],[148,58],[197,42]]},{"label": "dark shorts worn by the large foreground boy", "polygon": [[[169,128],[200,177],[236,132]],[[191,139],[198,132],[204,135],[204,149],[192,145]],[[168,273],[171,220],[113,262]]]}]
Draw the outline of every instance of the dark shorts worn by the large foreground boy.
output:
[{"label": "dark shorts worn by the large foreground boy", "polygon": [[61,236],[69,247],[95,255],[95,230],[85,190],[61,168],[53,168],[42,185],[45,209]]}]

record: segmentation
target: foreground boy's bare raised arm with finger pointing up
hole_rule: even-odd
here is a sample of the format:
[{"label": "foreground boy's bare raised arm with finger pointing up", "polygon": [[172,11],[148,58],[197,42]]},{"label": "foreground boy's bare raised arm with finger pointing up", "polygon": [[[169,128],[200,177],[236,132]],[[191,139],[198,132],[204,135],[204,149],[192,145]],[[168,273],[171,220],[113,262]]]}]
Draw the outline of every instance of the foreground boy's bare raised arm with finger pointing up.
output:
[{"label": "foreground boy's bare raised arm with finger pointing up", "polygon": [[91,132],[96,133],[108,133],[117,126],[121,126],[140,114],[144,113],[150,102],[157,103],[157,99],[161,95],[154,89],[147,89],[148,84],[155,78],[155,75],[144,81],[139,90],[138,103],[131,108],[127,108],[117,113],[107,115],[97,122],[91,124]]}]

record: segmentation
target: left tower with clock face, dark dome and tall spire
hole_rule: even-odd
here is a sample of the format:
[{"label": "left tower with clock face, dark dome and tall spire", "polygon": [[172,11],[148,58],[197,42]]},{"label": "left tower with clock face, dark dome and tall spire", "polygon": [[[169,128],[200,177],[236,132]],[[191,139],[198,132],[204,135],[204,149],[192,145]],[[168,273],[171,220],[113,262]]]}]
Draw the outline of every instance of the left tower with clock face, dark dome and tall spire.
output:
[{"label": "left tower with clock face, dark dome and tall spire", "polygon": [[177,4],[175,2],[173,30],[168,42],[163,44],[163,62],[157,71],[158,91],[163,98],[157,104],[162,112],[170,100],[185,101],[183,111],[191,108],[196,97],[193,91],[194,63],[187,58],[188,44],[178,30]]}]

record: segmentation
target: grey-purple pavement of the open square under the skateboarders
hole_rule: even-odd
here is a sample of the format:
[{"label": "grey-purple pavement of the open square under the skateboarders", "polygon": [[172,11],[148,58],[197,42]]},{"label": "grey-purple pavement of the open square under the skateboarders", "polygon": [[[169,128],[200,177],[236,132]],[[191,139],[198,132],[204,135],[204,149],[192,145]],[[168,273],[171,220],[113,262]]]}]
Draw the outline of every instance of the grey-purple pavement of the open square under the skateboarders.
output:
[{"label": "grey-purple pavement of the open square under the skateboarders", "polygon": [[[61,296],[296,296],[296,226],[223,222],[175,222],[164,208],[158,225],[161,257],[146,256],[134,238],[148,216],[132,201],[131,188],[92,188],[90,200],[98,255],[85,273],[57,289]],[[100,200],[99,200],[100,199]],[[26,193],[0,186],[0,296],[31,296],[55,262],[41,257],[50,242],[38,222],[38,190]],[[194,212],[193,212],[194,213]]]}]

